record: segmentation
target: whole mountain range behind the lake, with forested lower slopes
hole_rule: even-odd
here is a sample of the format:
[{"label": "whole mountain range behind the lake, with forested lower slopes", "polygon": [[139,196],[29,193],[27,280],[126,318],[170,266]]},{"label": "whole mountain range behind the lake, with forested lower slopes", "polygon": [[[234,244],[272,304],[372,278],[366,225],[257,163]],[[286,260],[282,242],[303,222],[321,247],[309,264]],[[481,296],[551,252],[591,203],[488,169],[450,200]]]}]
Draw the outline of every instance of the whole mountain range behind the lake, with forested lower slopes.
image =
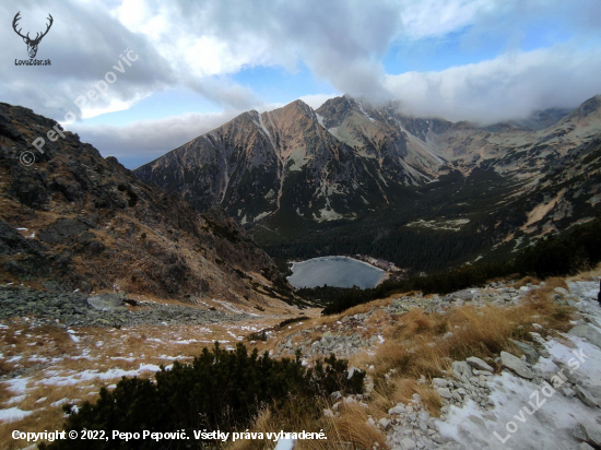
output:
[{"label": "whole mountain range behind the lake, with forested lower slopes", "polygon": [[601,96],[481,127],[347,95],[247,111],[134,170],[221,205],[278,258],[435,270],[516,251],[601,202]]}]

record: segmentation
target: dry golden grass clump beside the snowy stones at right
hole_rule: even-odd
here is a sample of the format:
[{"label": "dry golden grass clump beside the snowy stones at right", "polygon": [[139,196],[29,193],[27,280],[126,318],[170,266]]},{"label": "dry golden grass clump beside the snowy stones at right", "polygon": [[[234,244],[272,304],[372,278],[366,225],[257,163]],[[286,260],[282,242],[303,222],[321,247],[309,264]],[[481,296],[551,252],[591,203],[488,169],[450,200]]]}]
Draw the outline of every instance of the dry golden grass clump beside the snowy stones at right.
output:
[{"label": "dry golden grass clump beside the snowy stones at right", "polygon": [[[415,383],[420,376],[444,376],[450,362],[469,356],[488,358],[495,366],[491,358],[503,350],[520,354],[509,339],[531,340],[529,332],[537,331],[532,323],[568,330],[571,308],[557,305],[551,296],[555,287],[564,286],[562,279],[551,279],[518,306],[461,306],[445,315],[414,309],[401,316],[392,339],[380,345],[375,356],[364,354],[353,359],[361,364],[357,367],[376,367],[374,414],[384,414],[394,402],[404,403],[413,393],[420,393],[427,411],[435,415],[440,399],[435,391]],[[448,331],[451,334],[445,335]]]}]

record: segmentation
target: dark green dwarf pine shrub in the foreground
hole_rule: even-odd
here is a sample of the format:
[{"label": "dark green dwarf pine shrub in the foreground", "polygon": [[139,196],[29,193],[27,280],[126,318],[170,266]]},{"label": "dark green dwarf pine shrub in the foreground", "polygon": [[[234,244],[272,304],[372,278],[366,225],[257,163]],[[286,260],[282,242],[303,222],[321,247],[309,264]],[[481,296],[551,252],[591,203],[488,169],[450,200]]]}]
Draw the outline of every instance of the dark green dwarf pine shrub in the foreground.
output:
[{"label": "dark green dwarf pine shrub in the foreground", "polygon": [[[197,441],[193,430],[231,433],[247,426],[263,405],[274,408],[299,398],[329,395],[334,391],[360,393],[365,372],[347,372],[347,362],[334,355],[314,368],[295,359],[272,359],[266,352],[250,354],[238,343],[234,352],[215,343],[203,348],[191,364],[175,362],[170,370],[161,367],[154,380],[126,378],[113,391],[102,388],[96,403],[84,402],[79,410],[64,405],[66,430],[110,430],[123,433],[186,431],[189,440],[169,440],[169,449],[213,448]],[[305,402],[308,403],[308,402]],[[317,405],[318,402],[313,402]],[[317,406],[316,406],[317,407]],[[243,429],[244,430],[244,429]],[[275,431],[275,430],[266,430]],[[137,439],[59,440],[43,450],[160,449],[164,441]]]}]

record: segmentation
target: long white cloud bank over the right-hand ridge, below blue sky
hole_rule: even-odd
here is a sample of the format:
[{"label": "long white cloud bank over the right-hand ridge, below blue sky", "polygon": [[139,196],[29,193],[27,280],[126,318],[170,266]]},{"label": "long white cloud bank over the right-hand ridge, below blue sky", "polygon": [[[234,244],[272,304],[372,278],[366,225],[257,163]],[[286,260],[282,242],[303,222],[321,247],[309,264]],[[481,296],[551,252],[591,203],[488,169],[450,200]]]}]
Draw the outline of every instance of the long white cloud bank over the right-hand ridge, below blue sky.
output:
[{"label": "long white cloud bank over the right-hand ridge, below blue sky", "polygon": [[440,72],[390,75],[385,84],[408,114],[491,123],[575,107],[601,92],[599,73],[601,49],[557,46]]}]

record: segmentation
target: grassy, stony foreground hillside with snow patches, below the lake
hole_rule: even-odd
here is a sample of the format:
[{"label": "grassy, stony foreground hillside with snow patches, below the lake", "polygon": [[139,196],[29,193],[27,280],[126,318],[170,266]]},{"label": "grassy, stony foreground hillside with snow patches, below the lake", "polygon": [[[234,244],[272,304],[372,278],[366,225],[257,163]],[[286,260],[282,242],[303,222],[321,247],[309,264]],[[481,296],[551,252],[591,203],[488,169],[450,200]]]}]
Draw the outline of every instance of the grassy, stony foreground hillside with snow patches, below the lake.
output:
[{"label": "grassy, stony foreground hillside with snow patches, below the lake", "polygon": [[[216,364],[215,354],[200,351],[219,340],[232,351],[224,352],[227,359],[223,356],[222,362],[237,358],[249,370],[262,366],[240,347],[243,342],[249,350],[268,351],[263,358],[271,367],[288,367],[288,377],[290,359],[275,362],[298,357],[294,367],[315,368],[330,354],[349,358],[347,370],[342,366],[349,375],[366,374],[360,393],[351,386],[331,389],[335,383],[310,399],[296,392],[286,402],[288,396],[280,393],[273,404],[256,410],[241,428],[231,427],[225,417],[222,431],[246,429],[258,436],[322,430],[328,438],[297,440],[298,450],[349,445],[365,450],[376,445],[388,450],[500,450],[506,445],[528,450],[594,449],[601,445],[601,310],[596,299],[600,274],[598,267],[570,279],[497,280],[447,296],[405,293],[327,318],[309,311],[280,324],[254,318],[211,329],[134,325],[116,330],[44,327],[32,317],[3,319],[0,335],[8,343],[2,348],[3,370],[11,371],[0,379],[0,437],[17,449],[28,443],[11,439],[13,429],[107,429],[103,424],[109,424],[134,433],[145,429],[142,416],[156,422],[156,417],[175,415],[188,424],[178,425],[177,430],[185,428],[191,439],[170,439],[172,448],[271,450],[272,438],[236,442],[228,438],[223,447],[193,438],[192,430],[202,429],[204,422],[198,415],[190,422],[186,412],[199,407],[200,396],[211,398],[204,389],[209,381],[193,384],[195,374],[205,377],[203,367]],[[225,395],[227,389],[236,388],[233,380],[247,383],[250,375],[243,376],[237,367],[224,364],[225,374],[231,370],[235,378],[224,379],[214,390],[223,389]],[[121,376],[128,378],[118,381]],[[157,383],[144,384],[154,377]],[[248,389],[259,389],[262,381]],[[267,384],[278,387],[275,381]],[[103,386],[106,390],[98,396]],[[161,407],[154,406],[162,400],[155,398],[153,386],[173,395]],[[191,389],[198,394],[190,395]],[[87,406],[86,400],[92,401]],[[233,405],[239,407],[236,402]],[[70,411],[66,424],[63,406]],[[223,415],[224,410],[220,411]],[[517,426],[507,427],[510,422]],[[175,429],[156,426],[154,430]],[[59,440],[50,449],[75,449],[84,442]],[[95,443],[109,449],[126,441]],[[128,442],[131,448],[161,448],[161,443]]]}]

